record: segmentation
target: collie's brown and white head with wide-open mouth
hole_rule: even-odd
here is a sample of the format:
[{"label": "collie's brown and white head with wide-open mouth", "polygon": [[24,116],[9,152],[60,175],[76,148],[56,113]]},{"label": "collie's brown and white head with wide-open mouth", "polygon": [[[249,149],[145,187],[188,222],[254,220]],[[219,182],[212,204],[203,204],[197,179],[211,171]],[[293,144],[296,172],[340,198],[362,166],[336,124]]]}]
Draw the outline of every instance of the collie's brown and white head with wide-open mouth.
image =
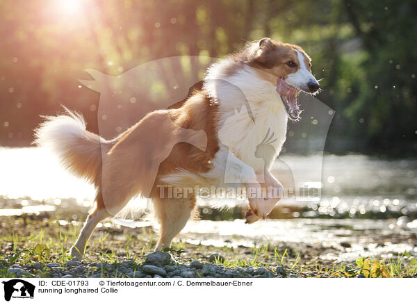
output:
[{"label": "collie's brown and white head with wide-open mouth", "polygon": [[315,93],[320,88],[311,74],[311,58],[297,45],[270,38],[254,42],[250,52],[247,65],[260,69],[265,80],[277,85],[277,93],[289,117],[297,120],[301,113],[297,104],[298,92]]}]

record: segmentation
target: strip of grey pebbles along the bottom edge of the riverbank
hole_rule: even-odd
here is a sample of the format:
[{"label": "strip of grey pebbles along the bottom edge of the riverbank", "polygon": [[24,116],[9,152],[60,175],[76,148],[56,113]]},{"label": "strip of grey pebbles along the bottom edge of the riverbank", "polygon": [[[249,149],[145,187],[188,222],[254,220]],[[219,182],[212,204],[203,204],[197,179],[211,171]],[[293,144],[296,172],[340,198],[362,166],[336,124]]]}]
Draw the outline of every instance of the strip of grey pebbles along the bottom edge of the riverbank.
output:
[{"label": "strip of grey pebbles along the bottom edge of the riverbank", "polygon": [[[213,262],[221,260],[220,254],[211,254],[207,259]],[[6,264],[3,264],[6,265]],[[31,265],[14,264],[8,268],[8,274],[16,277],[32,276],[38,272],[48,272],[49,277],[75,278],[75,277],[137,277],[137,278],[272,278],[272,277],[300,277],[296,272],[283,266],[276,267],[234,267],[216,265],[210,262],[192,261],[189,264],[180,264],[174,260],[169,252],[152,252],[145,256],[145,261],[120,261],[114,263],[83,263],[67,261],[59,263],[35,262]]]}]

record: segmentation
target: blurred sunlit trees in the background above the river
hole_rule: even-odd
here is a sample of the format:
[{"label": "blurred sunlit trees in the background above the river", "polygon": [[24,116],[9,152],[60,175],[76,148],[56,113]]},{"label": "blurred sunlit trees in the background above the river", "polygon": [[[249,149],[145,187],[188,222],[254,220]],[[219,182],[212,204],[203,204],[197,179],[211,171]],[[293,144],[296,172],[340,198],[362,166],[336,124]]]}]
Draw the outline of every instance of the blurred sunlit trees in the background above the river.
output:
[{"label": "blurred sunlit trees in the background above the river", "polygon": [[83,69],[219,58],[269,36],[313,58],[318,99],[336,112],[325,151],[417,149],[416,1],[17,0],[1,1],[0,17],[0,146],[28,146],[40,115],[60,104],[97,131],[99,94],[81,87]]}]

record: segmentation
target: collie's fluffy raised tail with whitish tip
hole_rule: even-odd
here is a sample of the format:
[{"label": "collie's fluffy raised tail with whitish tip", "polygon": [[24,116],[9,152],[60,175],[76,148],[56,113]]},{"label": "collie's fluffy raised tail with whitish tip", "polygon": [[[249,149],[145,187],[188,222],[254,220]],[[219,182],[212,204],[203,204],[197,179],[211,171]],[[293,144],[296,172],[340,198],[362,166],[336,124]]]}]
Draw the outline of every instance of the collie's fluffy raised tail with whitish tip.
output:
[{"label": "collie's fluffy raised tail with whitish tip", "polygon": [[[67,108],[65,108],[67,110]],[[45,117],[35,130],[38,146],[50,149],[63,166],[78,177],[98,185],[101,176],[101,150],[111,143],[85,129],[81,115],[67,110],[67,115]]]}]

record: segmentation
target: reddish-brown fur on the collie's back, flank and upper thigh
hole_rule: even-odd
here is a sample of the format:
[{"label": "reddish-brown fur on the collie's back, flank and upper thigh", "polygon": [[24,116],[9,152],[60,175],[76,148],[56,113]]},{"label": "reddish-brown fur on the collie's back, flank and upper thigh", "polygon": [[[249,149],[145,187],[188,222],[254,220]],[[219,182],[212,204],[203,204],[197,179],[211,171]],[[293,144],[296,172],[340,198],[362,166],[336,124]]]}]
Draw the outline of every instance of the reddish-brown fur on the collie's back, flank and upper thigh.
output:
[{"label": "reddish-brown fur on the collie's back, flank and upper thigh", "polygon": [[[163,184],[159,179],[178,167],[191,172],[207,172],[210,168],[208,161],[218,151],[216,110],[217,106],[210,102],[204,91],[199,91],[181,108],[149,113],[123,133],[104,156],[103,173],[98,184],[104,199],[97,201],[97,208],[107,208],[111,213],[120,211],[131,197],[143,193],[144,188],[152,188],[149,196],[158,197],[157,185]],[[206,150],[190,145],[186,138],[182,140],[179,131],[183,129],[204,131]],[[153,163],[161,163],[159,168],[156,167],[156,178],[152,178]],[[149,184],[154,179],[155,183]]]}]

